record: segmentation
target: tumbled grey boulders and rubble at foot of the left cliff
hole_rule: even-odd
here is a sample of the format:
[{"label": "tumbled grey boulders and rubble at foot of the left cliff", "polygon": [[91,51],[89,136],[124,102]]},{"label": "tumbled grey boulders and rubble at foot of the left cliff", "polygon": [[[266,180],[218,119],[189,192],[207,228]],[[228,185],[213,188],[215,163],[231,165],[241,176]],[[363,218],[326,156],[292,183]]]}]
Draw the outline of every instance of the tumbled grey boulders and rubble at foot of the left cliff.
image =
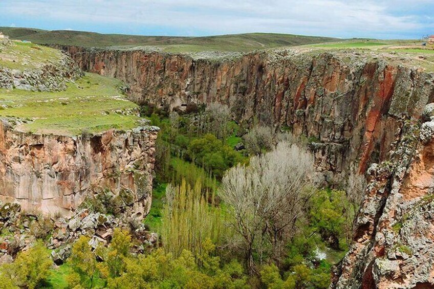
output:
[{"label": "tumbled grey boulders and rubble at foot of the left cliff", "polygon": [[72,244],[80,236],[89,236],[89,245],[96,249],[110,243],[116,228],[131,233],[134,253],[158,245],[157,234],[148,232],[143,223],[127,214],[113,216],[83,209],[69,217],[50,218],[23,212],[19,204],[0,201],[0,265],[28,250],[36,238],[46,240],[47,247],[53,250],[53,261],[59,265],[70,256]]}]

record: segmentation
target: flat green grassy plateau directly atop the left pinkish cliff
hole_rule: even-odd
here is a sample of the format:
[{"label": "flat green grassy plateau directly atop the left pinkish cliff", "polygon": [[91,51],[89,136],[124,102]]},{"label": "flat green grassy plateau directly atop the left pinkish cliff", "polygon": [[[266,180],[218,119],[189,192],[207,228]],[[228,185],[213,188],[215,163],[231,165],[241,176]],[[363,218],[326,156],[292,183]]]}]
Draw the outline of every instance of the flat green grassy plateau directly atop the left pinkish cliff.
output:
[{"label": "flat green grassy plateau directly atop the left pinkish cliff", "polygon": [[131,113],[138,106],[120,96],[120,83],[88,73],[62,92],[0,89],[0,116],[25,120],[17,129],[39,134],[131,129],[139,123],[140,118]]}]

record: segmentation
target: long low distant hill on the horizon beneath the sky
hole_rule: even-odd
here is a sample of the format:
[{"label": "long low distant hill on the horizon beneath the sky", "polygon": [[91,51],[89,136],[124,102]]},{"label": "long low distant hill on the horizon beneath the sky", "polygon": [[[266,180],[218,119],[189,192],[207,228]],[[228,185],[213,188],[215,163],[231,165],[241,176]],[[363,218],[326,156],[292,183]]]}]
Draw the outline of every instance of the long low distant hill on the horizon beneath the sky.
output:
[{"label": "long low distant hill on the horizon beneath the sky", "polygon": [[158,46],[168,52],[240,51],[298,46],[341,41],[330,37],[301,36],[276,33],[246,33],[206,37],[139,36],[100,34],[69,30],[0,27],[12,39],[29,40],[39,44],[77,45],[85,47]]}]

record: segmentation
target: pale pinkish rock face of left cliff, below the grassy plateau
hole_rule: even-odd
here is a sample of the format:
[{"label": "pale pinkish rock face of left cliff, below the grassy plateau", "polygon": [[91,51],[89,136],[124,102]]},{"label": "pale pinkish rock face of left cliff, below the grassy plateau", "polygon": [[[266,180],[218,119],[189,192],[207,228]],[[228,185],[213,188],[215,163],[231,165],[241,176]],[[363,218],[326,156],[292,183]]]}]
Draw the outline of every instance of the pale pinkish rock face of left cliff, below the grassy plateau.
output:
[{"label": "pale pinkish rock face of left cliff, below the grassy plateau", "polygon": [[150,208],[156,138],[154,127],[69,137],[18,132],[0,121],[0,200],[68,214],[89,192],[108,189],[125,214],[140,218]]}]

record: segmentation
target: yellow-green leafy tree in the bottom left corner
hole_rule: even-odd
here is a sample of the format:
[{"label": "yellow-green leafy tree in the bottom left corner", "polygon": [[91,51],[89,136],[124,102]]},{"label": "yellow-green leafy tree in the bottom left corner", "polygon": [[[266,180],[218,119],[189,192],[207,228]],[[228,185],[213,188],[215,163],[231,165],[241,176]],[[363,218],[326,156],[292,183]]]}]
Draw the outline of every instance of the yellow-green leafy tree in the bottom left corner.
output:
[{"label": "yellow-green leafy tree in the bottom left corner", "polygon": [[48,277],[52,264],[46,248],[38,241],[29,250],[19,253],[15,262],[4,265],[0,277],[3,275],[3,278],[11,280],[16,286],[33,289]]}]

